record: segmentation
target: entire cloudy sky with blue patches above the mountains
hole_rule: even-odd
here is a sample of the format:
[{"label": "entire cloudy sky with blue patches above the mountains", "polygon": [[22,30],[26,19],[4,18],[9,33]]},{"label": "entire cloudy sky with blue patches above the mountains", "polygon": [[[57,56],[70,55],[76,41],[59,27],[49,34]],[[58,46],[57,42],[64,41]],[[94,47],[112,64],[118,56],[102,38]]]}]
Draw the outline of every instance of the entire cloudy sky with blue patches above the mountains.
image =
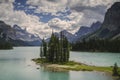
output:
[{"label": "entire cloudy sky with blue patches above the mountains", "polygon": [[74,34],[81,26],[103,22],[114,2],[120,0],[0,0],[0,20],[41,38],[49,37],[52,29]]}]

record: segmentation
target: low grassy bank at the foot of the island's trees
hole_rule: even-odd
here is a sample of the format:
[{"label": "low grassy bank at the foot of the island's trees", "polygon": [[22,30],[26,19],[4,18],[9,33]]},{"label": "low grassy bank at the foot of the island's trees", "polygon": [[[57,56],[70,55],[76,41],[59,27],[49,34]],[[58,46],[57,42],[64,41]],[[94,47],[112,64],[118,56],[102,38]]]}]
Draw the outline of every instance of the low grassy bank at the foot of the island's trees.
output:
[{"label": "low grassy bank at the foot of the island's trees", "polygon": [[[45,59],[32,59],[36,64],[42,64],[45,66],[46,69],[52,71],[101,71],[101,72],[108,72],[112,73],[112,66],[111,67],[100,67],[100,66],[90,66],[83,63],[78,63],[74,61],[69,61],[67,63],[57,63],[52,64],[48,63]],[[119,67],[120,70],[120,67]]]}]

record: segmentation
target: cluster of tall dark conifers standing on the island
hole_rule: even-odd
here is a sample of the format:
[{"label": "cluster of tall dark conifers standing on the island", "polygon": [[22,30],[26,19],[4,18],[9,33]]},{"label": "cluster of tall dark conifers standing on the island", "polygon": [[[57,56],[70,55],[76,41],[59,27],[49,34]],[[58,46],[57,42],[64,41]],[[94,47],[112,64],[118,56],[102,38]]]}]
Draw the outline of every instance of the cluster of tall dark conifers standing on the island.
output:
[{"label": "cluster of tall dark conifers standing on the island", "polygon": [[52,63],[64,63],[69,61],[69,42],[67,38],[60,33],[60,38],[51,35],[50,41],[47,43],[43,39],[40,47],[40,57],[45,58],[46,61]]}]

